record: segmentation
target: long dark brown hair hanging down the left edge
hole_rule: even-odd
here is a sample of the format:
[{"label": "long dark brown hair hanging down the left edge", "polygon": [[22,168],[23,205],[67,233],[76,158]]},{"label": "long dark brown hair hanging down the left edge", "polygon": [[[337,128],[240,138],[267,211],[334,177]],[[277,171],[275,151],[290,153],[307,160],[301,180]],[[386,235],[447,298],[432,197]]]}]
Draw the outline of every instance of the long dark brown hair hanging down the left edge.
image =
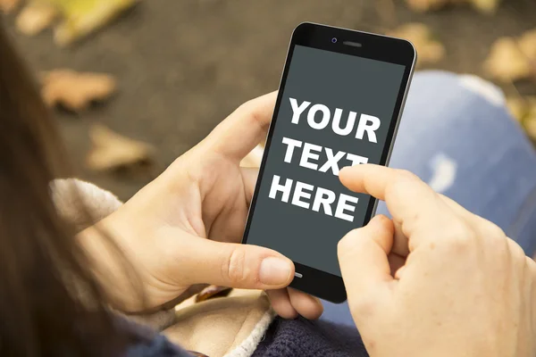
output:
[{"label": "long dark brown hair hanging down the left edge", "polygon": [[88,258],[54,209],[49,184],[68,172],[61,142],[0,23],[2,356],[118,355],[125,341]]}]

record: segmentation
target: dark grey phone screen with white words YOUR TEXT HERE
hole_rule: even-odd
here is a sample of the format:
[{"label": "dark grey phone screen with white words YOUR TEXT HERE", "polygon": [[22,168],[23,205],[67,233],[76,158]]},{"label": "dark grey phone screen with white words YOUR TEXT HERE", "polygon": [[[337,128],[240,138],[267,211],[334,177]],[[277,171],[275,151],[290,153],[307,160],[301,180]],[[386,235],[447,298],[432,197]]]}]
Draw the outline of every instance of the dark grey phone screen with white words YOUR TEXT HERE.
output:
[{"label": "dark grey phone screen with white words YOUR TEXT HERE", "polygon": [[247,244],[340,277],[337,243],[364,225],[373,198],[344,187],[339,170],[381,163],[406,66],[298,45],[289,56]]}]

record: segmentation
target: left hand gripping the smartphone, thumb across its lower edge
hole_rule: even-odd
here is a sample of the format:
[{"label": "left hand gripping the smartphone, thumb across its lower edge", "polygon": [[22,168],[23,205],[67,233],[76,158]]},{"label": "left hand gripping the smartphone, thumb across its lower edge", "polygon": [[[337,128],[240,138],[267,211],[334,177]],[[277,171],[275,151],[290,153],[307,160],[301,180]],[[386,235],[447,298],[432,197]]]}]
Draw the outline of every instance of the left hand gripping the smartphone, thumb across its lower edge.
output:
[{"label": "left hand gripping the smartphone, thumb across its lower edge", "polygon": [[[274,92],[241,105],[101,223],[137,270],[148,308],[207,283],[267,290],[273,308],[286,318],[322,313],[317,299],[286,288],[294,278],[288,258],[240,244],[258,170],[240,168],[239,162],[265,137],[275,98]],[[113,286],[123,309],[139,309],[133,296],[122,294],[120,281]]]}]

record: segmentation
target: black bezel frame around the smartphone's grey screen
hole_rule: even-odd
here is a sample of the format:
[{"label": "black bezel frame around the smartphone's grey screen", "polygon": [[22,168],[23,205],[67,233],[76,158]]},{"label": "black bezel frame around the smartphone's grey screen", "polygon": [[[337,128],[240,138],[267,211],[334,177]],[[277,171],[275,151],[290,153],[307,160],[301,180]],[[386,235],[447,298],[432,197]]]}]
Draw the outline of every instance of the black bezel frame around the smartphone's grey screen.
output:
[{"label": "black bezel frame around the smartphone's grey screen", "polygon": [[[333,37],[337,37],[335,43],[331,41],[331,38]],[[352,43],[360,44],[361,46],[348,46],[344,44],[345,41],[351,41]],[[270,151],[273,131],[275,129],[275,121],[277,120],[277,114],[280,109],[283,89],[289,74],[290,62],[292,61],[292,54],[295,46],[307,46],[339,54],[350,54],[357,57],[369,58],[381,62],[397,63],[405,66],[395,110],[389,124],[388,137],[383,148],[383,153],[381,154],[381,165],[387,165],[389,163],[390,152],[394,144],[394,138],[396,137],[398,123],[402,115],[407,89],[412,78],[416,61],[415,47],[409,41],[404,39],[381,36],[352,29],[340,29],[311,22],[303,22],[294,29],[290,39],[287,59],[281,75],[280,90],[273,111],[272,122],[268,131],[268,136],[266,137],[264,155],[255,186],[255,193],[251,200],[247,215],[246,228],[242,239],[243,244],[247,244],[249,228],[255,212],[255,203],[264,176],[265,162]],[[378,200],[376,199],[372,199],[369,203],[364,218],[364,224],[367,224],[368,221],[371,220],[373,213],[376,210],[377,203]],[[294,264],[296,271],[300,273],[302,277],[294,278],[290,284],[291,287],[332,303],[343,303],[347,300],[346,290],[341,277],[322,270],[314,269],[298,262],[294,262]]]}]

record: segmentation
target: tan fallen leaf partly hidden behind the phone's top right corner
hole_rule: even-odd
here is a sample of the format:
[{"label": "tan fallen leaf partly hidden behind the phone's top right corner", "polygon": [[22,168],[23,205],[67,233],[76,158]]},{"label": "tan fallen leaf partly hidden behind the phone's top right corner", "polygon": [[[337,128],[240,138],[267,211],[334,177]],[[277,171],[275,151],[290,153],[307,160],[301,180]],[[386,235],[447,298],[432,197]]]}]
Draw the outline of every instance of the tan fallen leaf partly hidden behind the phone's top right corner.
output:
[{"label": "tan fallen leaf partly hidden behind the phone's top right corner", "polygon": [[431,30],[423,23],[406,23],[389,32],[389,36],[406,38],[411,41],[418,54],[419,63],[433,63],[445,56],[445,47],[433,39]]}]

